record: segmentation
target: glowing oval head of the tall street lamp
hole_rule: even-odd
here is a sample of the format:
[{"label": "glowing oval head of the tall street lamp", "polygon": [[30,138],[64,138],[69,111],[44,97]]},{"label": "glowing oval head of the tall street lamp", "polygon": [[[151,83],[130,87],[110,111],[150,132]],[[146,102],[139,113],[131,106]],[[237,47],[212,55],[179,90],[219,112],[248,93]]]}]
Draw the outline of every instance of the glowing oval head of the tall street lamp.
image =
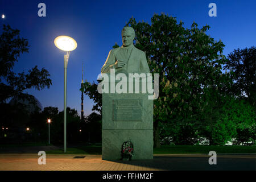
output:
[{"label": "glowing oval head of the tall street lamp", "polygon": [[73,51],[77,47],[76,40],[65,35],[57,36],[54,39],[54,44],[63,51]]}]

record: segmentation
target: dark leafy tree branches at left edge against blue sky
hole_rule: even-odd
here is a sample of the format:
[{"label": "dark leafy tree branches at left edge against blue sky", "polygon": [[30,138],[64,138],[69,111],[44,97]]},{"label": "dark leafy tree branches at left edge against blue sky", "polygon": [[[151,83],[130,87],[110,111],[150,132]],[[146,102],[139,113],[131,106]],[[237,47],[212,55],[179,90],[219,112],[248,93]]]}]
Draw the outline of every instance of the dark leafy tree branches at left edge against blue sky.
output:
[{"label": "dark leafy tree branches at left edge against blue sky", "polygon": [[37,90],[49,88],[52,81],[49,72],[37,66],[30,69],[27,74],[14,73],[13,67],[23,52],[28,52],[27,39],[20,38],[19,30],[3,24],[3,32],[0,35],[0,104],[13,96],[29,98],[35,102],[24,90],[35,88]]}]

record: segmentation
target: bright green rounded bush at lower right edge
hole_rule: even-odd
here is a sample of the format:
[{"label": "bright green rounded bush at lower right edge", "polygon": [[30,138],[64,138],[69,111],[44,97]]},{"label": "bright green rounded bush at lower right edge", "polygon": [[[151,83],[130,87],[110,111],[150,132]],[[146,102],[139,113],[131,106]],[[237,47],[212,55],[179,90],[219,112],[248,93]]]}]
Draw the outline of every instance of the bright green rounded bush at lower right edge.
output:
[{"label": "bright green rounded bush at lower right edge", "polygon": [[[209,104],[200,122],[200,134],[208,137],[210,144],[223,145],[232,138],[236,138],[234,144],[255,141],[254,107],[243,100],[230,97],[222,104]],[[246,136],[244,131],[249,131]]]}]

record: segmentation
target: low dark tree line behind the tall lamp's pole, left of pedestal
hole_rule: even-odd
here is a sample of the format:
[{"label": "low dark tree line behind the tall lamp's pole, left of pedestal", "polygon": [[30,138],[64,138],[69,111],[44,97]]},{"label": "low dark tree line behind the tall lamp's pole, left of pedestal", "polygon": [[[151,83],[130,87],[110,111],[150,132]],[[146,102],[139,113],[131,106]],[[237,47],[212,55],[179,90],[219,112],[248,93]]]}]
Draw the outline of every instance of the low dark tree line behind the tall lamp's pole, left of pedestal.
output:
[{"label": "low dark tree line behind the tall lamp's pole, left of pedestal", "polygon": [[[44,107],[42,113],[33,113],[27,119],[26,125],[31,128],[34,141],[48,140],[48,119],[51,119],[51,143],[62,144],[64,113],[59,112],[57,107]],[[81,121],[77,110],[67,107],[67,142],[101,142],[101,115],[91,113],[85,117],[85,121]]]}]

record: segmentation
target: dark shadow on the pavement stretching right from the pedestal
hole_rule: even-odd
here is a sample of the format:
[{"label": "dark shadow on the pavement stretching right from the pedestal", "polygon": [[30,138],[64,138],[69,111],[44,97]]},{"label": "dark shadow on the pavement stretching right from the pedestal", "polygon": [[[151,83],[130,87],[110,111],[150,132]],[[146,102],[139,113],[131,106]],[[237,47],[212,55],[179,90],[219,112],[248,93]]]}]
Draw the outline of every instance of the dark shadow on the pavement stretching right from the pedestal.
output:
[{"label": "dark shadow on the pavement stretching right from the pedestal", "polygon": [[[239,157],[237,157],[239,156]],[[154,156],[152,160],[111,160],[112,162],[168,171],[255,171],[255,155],[221,155],[217,164],[210,165],[204,156]]]}]

